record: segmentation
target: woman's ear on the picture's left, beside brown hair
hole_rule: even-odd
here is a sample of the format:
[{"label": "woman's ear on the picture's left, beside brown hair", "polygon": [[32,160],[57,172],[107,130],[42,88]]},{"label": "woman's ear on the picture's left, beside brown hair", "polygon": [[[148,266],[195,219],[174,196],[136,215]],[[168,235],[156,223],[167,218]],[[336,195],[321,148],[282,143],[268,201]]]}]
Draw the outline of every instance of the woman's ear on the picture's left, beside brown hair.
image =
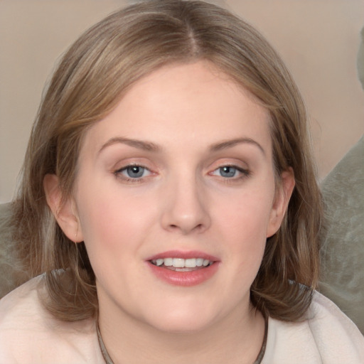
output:
[{"label": "woman's ear on the picture's left, beside brown hair", "polygon": [[75,201],[72,197],[63,200],[58,177],[55,174],[46,174],[43,178],[43,188],[48,206],[62,231],[71,241],[82,242],[82,230]]}]

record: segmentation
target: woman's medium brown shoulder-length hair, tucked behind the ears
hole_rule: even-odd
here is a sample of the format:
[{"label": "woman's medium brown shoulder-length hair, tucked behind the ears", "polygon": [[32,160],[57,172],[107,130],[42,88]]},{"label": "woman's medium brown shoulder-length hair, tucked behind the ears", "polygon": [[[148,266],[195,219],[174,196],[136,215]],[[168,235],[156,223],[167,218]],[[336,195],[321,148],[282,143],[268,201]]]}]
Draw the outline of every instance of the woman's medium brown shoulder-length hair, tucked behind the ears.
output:
[{"label": "woman's medium brown shoulder-length hair, tucked behind the ears", "polygon": [[95,274],[83,242],[60,230],[45,200],[43,178],[55,173],[72,194],[87,128],[103,119],[134,82],[166,64],[208,60],[257,97],[270,112],[276,180],[294,170],[296,187],[279,231],[267,240],[252,304],[294,321],[318,279],[321,196],[301,95],[287,68],[245,21],[203,1],[144,1],[107,16],[65,53],[50,80],[14,201],[14,240],[29,277],[45,273],[47,308],[74,321],[97,314]]}]

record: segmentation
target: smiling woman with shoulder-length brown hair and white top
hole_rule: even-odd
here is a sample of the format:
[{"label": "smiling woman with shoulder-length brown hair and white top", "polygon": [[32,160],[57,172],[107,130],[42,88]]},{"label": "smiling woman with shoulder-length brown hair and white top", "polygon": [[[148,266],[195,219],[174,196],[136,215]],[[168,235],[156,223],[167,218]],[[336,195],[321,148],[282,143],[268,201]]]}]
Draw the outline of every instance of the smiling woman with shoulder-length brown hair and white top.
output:
[{"label": "smiling woman with shoulder-length brown hair and white top", "polygon": [[[146,1],[50,82],[14,202],[36,277],[0,304],[6,363],[362,363],[318,280],[299,91],[254,29]],[[39,275],[41,274],[41,275]]]}]

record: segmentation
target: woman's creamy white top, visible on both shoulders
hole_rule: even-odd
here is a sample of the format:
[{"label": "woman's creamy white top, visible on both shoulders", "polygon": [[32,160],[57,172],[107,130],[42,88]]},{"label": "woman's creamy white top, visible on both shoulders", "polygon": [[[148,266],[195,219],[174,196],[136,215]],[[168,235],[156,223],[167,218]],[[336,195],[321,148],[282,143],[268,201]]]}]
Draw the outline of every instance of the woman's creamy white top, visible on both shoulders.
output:
[{"label": "woman's creamy white top, visible on both shoulders", "polygon": [[[92,319],[65,323],[38,299],[39,278],[0,300],[1,364],[104,364]],[[262,364],[363,364],[364,337],[338,307],[314,294],[300,323],[269,318]]]}]

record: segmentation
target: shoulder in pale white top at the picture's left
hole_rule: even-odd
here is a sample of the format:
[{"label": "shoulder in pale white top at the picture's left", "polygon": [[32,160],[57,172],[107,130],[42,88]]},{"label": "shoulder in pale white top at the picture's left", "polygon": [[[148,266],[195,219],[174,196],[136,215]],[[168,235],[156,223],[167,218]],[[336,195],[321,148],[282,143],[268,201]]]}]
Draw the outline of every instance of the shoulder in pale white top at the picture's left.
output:
[{"label": "shoulder in pale white top at the picture's left", "polygon": [[95,322],[58,321],[38,297],[36,277],[0,300],[0,363],[102,363]]}]

